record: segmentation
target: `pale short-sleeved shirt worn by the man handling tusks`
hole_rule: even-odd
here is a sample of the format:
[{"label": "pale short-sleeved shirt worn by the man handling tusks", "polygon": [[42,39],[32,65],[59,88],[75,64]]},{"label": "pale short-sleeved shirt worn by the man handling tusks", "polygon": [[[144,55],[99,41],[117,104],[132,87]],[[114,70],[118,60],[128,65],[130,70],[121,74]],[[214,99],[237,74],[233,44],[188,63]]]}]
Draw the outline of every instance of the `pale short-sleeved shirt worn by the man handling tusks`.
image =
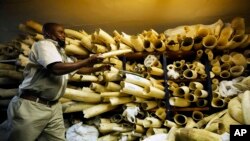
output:
[{"label": "pale short-sleeved shirt worn by the man handling tusks", "polygon": [[57,100],[65,92],[67,86],[66,75],[55,75],[47,66],[56,62],[68,62],[68,58],[54,40],[45,39],[35,42],[29,54],[29,63],[24,69],[24,80],[19,91],[28,90],[34,95],[47,100]]}]

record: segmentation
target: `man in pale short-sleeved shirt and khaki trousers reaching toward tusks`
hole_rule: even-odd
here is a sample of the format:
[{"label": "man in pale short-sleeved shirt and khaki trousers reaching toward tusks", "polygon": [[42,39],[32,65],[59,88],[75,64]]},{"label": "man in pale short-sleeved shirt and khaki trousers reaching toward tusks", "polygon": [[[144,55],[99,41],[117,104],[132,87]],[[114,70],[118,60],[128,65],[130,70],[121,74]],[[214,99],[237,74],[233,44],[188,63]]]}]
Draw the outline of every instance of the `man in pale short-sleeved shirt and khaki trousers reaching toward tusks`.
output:
[{"label": "man in pale short-sleeved shirt and khaki trousers reaching toward tusks", "polygon": [[8,119],[0,126],[0,141],[64,141],[65,127],[58,99],[67,86],[69,73],[91,73],[109,66],[86,67],[101,62],[100,55],[73,62],[65,55],[65,33],[62,25],[43,25],[44,40],[32,46],[29,63],[19,94],[8,107]]}]

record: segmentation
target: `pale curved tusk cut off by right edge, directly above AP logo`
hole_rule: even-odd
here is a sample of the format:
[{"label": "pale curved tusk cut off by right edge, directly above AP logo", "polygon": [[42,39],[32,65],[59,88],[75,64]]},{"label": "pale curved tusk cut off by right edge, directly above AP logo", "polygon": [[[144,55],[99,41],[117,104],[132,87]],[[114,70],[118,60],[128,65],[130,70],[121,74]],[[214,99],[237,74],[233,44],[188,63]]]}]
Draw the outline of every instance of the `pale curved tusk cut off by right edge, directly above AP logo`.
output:
[{"label": "pale curved tusk cut off by right edge, directly above AP logo", "polygon": [[249,100],[250,100],[250,91],[247,90],[243,93],[242,100],[241,100],[244,124],[247,124],[247,125],[250,124]]}]

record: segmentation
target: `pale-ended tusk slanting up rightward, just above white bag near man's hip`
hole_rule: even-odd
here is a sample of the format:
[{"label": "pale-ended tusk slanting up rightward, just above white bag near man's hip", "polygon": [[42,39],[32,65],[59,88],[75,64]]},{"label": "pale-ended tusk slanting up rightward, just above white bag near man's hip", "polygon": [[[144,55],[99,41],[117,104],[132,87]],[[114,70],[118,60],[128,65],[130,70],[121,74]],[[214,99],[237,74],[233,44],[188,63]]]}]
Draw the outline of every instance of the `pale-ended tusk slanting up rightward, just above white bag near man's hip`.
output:
[{"label": "pale-ended tusk slanting up rightward, just above white bag near man's hip", "polygon": [[114,106],[111,104],[101,103],[101,104],[98,104],[98,105],[95,105],[93,107],[83,110],[84,118],[91,118],[91,117],[100,115],[102,113],[114,110],[115,108],[117,108],[116,105]]}]

